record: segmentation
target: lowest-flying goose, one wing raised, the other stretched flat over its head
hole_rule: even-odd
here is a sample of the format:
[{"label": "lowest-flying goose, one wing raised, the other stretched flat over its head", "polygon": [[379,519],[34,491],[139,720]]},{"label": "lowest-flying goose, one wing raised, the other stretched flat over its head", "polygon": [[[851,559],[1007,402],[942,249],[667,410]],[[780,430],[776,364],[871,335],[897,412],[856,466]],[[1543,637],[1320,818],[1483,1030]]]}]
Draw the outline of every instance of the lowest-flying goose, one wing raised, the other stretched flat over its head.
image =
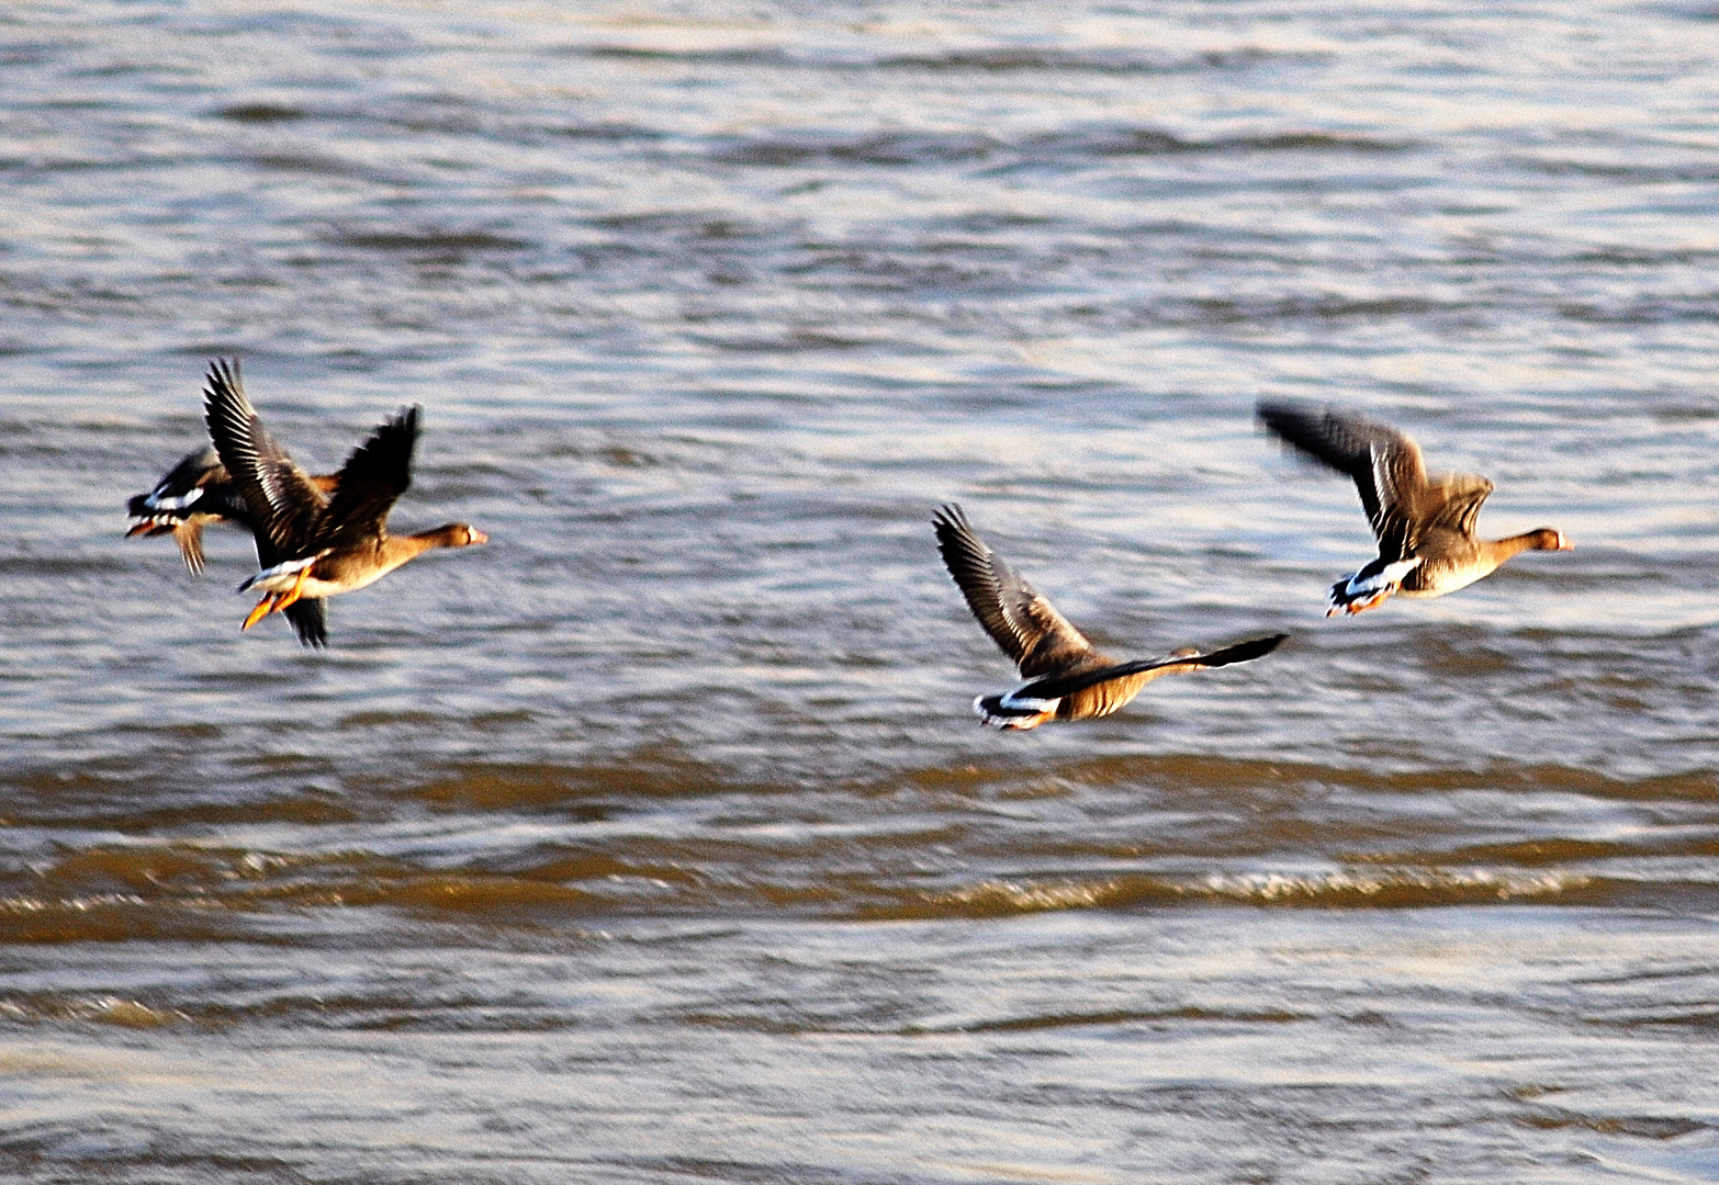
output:
[{"label": "lowest-flying goose, one wing raised, the other stretched flat over its head", "polygon": [[1097,651],[1050,601],[985,546],[961,507],[951,503],[939,510],[932,527],[944,567],[973,617],[1028,680],[1011,692],[973,701],[973,711],[994,728],[1037,728],[1050,720],[1109,716],[1160,675],[1246,663],[1270,654],[1288,637],[1272,634],[1217,651],[1188,647],[1167,658],[1117,663]]}]

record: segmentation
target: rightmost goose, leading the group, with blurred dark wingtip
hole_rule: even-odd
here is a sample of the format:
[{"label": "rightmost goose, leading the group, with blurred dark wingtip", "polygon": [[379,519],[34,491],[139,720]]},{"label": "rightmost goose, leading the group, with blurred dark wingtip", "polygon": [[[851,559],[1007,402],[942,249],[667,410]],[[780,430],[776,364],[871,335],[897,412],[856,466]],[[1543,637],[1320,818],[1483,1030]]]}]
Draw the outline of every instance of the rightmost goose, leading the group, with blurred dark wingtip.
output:
[{"label": "rightmost goose, leading the group, with blurred dark wingtip", "polygon": [[1444,596],[1523,551],[1573,551],[1561,531],[1535,527],[1477,539],[1475,517],[1492,483],[1475,474],[1428,477],[1420,445],[1394,428],[1336,407],[1260,400],[1258,419],[1296,450],[1355,479],[1379,539],[1379,558],[1325,594],[1325,617],[1365,613],[1387,596]]}]

